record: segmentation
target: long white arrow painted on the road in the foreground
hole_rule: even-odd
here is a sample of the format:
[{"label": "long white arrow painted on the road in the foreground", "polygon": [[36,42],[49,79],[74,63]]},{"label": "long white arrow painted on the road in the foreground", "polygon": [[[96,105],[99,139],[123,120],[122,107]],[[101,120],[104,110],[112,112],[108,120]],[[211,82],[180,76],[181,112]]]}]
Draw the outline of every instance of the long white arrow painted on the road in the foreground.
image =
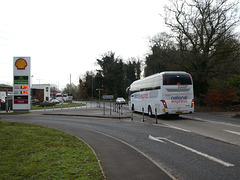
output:
[{"label": "long white arrow painted on the road in the foreground", "polygon": [[182,148],[184,148],[184,149],[186,149],[186,150],[189,150],[189,151],[191,151],[191,152],[193,152],[193,153],[196,153],[196,154],[201,155],[201,156],[203,156],[203,157],[205,157],[205,158],[208,158],[208,159],[210,159],[210,160],[212,160],[212,161],[214,161],[214,162],[217,162],[217,163],[219,163],[219,164],[222,164],[223,166],[226,166],[226,167],[234,166],[234,164],[225,162],[225,161],[223,161],[223,160],[221,160],[221,159],[215,158],[215,157],[210,156],[210,155],[208,155],[208,154],[206,154],[206,153],[202,153],[202,152],[200,152],[200,151],[197,151],[197,150],[195,150],[195,149],[192,149],[192,148],[187,147],[187,146],[185,146],[185,145],[182,145],[182,144],[180,144],[180,143],[174,142],[174,141],[169,140],[169,139],[167,139],[167,138],[163,138],[163,137],[153,137],[153,136],[149,135],[149,139],[155,140],[155,141],[159,141],[159,142],[164,142],[163,140],[165,140],[165,141],[168,141],[168,142],[170,142],[170,143],[172,143],[172,144],[175,144],[175,145],[177,145],[177,146],[179,146],[179,147],[182,147]]}]

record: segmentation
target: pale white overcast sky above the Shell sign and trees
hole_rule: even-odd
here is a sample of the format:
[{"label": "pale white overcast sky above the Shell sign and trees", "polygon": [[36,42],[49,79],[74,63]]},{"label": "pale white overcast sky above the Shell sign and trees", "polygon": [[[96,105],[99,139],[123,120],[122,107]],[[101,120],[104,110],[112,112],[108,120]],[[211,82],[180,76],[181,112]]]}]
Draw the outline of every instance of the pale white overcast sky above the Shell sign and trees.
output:
[{"label": "pale white overcast sky above the Shell sign and trees", "polygon": [[164,31],[167,0],[0,0],[0,84],[13,83],[13,57],[30,56],[32,83],[63,88],[96,70],[108,51],[142,59]]}]

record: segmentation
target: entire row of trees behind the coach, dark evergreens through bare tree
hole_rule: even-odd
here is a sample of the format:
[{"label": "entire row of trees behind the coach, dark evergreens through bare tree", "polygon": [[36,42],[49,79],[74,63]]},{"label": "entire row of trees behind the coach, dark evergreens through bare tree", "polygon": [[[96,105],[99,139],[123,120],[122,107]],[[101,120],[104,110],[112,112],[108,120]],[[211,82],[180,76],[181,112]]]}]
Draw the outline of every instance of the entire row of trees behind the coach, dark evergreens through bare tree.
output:
[{"label": "entire row of trees behind the coach, dark evergreens through bare tree", "polygon": [[173,0],[161,14],[169,31],[149,38],[148,54],[127,61],[111,51],[103,54],[96,59],[99,69],[79,79],[77,97],[96,98],[98,88],[103,94],[127,97],[126,88],[141,75],[186,71],[193,77],[199,103],[239,101],[238,7],[232,0]]}]

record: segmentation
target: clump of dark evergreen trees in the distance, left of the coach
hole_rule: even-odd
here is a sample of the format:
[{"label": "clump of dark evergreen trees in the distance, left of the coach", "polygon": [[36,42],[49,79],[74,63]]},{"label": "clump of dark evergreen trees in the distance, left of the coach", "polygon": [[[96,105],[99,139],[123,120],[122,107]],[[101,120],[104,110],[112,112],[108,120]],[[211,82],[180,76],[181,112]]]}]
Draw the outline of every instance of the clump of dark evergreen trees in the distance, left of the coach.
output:
[{"label": "clump of dark evergreen trees in the distance, left of the coach", "polygon": [[116,57],[114,52],[107,52],[97,59],[100,69],[95,72],[87,71],[83,79],[79,80],[80,98],[91,99],[101,94],[113,95],[115,98],[127,97],[126,88],[135,80],[140,79],[141,62],[131,58],[124,62]]}]

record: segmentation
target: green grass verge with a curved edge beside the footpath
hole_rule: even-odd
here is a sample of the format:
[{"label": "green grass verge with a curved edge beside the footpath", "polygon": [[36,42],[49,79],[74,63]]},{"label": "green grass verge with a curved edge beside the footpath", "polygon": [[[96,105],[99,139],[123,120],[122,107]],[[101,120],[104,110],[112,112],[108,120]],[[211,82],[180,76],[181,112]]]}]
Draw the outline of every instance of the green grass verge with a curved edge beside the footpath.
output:
[{"label": "green grass verge with a curved edge beside the footpath", "polygon": [[0,179],[104,179],[96,156],[77,137],[0,121]]}]

